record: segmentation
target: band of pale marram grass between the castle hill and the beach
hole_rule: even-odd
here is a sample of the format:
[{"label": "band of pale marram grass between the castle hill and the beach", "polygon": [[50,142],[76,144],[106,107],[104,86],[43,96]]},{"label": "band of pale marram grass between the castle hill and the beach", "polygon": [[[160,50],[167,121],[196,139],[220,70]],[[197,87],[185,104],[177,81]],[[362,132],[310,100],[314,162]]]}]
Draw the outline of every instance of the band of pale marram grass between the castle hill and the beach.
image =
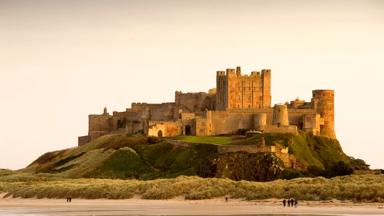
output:
[{"label": "band of pale marram grass between the castle hill and the beach", "polygon": [[5,181],[0,193],[21,198],[210,199],[228,195],[246,200],[289,198],[299,200],[353,200],[384,202],[384,175],[351,175],[326,179],[297,178],[272,182],[233,181],[218,178],[177,177],[157,180],[26,178]]}]

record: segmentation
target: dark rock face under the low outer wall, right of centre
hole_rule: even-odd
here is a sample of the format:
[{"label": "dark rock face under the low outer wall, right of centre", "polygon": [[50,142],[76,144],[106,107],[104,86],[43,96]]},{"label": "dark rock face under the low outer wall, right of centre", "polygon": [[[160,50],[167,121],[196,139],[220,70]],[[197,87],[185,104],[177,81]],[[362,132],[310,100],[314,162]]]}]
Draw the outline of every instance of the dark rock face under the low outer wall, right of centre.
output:
[{"label": "dark rock face under the low outer wall, right of centre", "polygon": [[280,177],[284,165],[273,153],[225,153],[219,155],[217,177],[233,180],[271,181]]}]

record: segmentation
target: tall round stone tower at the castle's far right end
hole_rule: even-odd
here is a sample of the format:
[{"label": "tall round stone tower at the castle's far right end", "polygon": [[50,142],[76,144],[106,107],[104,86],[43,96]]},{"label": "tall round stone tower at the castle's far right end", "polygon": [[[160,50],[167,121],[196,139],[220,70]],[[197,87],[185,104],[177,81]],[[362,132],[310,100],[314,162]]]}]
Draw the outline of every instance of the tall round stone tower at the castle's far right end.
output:
[{"label": "tall round stone tower at the castle's far right end", "polygon": [[335,107],[334,90],[313,90],[312,103],[316,113],[324,118],[324,125],[320,126],[320,135],[336,139],[335,135]]}]

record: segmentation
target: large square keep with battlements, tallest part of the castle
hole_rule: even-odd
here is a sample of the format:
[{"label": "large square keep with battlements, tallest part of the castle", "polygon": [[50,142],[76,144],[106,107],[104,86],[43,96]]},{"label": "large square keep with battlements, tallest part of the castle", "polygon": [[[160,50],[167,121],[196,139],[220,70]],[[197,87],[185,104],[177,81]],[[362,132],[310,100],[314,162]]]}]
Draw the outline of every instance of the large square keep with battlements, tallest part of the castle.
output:
[{"label": "large square keep with battlements, tallest part of the castle", "polygon": [[216,74],[216,109],[259,109],[271,107],[271,70],[242,75],[241,68]]}]

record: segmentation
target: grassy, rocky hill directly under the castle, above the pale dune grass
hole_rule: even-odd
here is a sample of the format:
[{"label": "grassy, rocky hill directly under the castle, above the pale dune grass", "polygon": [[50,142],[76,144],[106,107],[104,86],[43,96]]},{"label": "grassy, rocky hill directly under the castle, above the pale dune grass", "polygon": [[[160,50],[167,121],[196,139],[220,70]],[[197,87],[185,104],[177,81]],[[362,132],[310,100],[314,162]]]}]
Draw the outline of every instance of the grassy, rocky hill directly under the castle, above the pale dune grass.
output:
[{"label": "grassy, rocky hill directly under the castle, above the pale dune grass", "polygon": [[[285,168],[273,153],[218,152],[220,145],[266,145],[289,148],[306,170]],[[177,146],[168,140],[124,134],[107,135],[76,148],[48,152],[22,172],[56,178],[156,179],[177,176],[229,177],[266,181],[300,176],[348,174],[347,157],[337,140],[300,134],[258,134],[250,138],[176,137],[190,143]],[[232,161],[232,175],[218,170],[220,161]],[[272,167],[273,165],[273,167]],[[272,169],[273,168],[273,169]],[[251,170],[251,172],[250,172]],[[0,172],[1,175],[1,172]],[[12,175],[11,175],[12,176]],[[18,174],[18,178],[22,178]],[[44,178],[44,176],[41,176]]]}]

